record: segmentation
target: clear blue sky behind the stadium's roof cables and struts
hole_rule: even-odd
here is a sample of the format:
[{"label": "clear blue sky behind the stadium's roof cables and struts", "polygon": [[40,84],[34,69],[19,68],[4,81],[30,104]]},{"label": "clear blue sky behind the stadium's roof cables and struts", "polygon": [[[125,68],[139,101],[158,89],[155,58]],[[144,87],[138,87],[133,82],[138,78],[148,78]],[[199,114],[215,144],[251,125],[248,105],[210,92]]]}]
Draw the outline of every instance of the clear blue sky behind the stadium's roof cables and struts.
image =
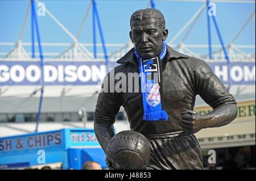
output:
[{"label": "clear blue sky behind the stadium's roof cables and struts", "polygon": [[[88,8],[89,1],[41,1],[46,8],[68,28],[73,35],[77,34],[82,18]],[[101,26],[106,43],[127,43],[129,41],[130,15],[138,9],[144,9],[148,1],[96,1],[100,15]],[[166,27],[169,30],[167,42],[171,40],[181,27],[200,8],[202,2],[168,2],[155,1],[156,9],[163,12],[166,18]],[[0,1],[0,42],[16,42],[20,27],[25,16],[28,1]],[[224,43],[229,44],[237,32],[255,9],[255,3],[216,3],[216,20],[220,27]],[[24,29],[22,40],[31,41],[31,22]],[[72,43],[72,39],[58,27],[48,15],[38,17],[40,35],[43,42]],[[219,44],[217,33],[212,24],[213,44]],[[179,43],[185,32],[175,44]],[[92,43],[92,11],[89,12],[85,26],[82,30],[80,41]],[[100,36],[97,32],[97,41]],[[208,44],[207,19],[204,11],[198,19],[190,36],[185,41],[187,44]],[[255,45],[255,16],[250,21],[236,44]],[[0,47],[0,52],[3,49]],[[254,51],[254,50],[253,50]]]}]

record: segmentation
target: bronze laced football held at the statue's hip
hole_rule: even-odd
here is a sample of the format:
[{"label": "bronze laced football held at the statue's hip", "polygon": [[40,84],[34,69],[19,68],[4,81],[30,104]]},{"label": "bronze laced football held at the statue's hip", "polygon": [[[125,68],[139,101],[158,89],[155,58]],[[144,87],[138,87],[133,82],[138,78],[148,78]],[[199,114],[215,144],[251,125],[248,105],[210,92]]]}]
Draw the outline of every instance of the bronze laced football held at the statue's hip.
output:
[{"label": "bronze laced football held at the statue's hip", "polygon": [[143,134],[122,131],[112,137],[106,155],[111,169],[141,170],[150,161],[151,146]]}]

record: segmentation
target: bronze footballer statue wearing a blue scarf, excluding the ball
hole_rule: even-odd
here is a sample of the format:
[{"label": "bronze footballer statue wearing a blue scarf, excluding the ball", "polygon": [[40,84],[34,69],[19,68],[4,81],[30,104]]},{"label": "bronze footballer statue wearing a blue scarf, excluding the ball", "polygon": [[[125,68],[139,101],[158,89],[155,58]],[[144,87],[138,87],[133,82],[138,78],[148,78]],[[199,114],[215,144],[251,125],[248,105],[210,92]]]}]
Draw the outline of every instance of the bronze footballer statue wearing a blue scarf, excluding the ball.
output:
[{"label": "bronze footballer statue wearing a blue scarf, excluding the ball", "polygon": [[[237,117],[236,100],[206,62],[164,44],[168,30],[159,10],[135,11],[130,27],[134,48],[117,61],[120,65],[110,70],[104,83],[109,85],[112,73],[123,73],[126,78],[129,73],[146,76],[139,79],[139,92],[109,91],[109,86],[98,95],[94,131],[100,145],[106,153],[114,136],[115,116],[123,106],[130,129],[150,141],[151,159],[146,169],[203,169],[200,145],[193,133],[229,124]],[[114,79],[115,84],[118,81]],[[131,85],[125,81],[129,89]],[[196,95],[213,111],[206,115],[193,111]],[[108,158],[107,163],[112,164]]]}]

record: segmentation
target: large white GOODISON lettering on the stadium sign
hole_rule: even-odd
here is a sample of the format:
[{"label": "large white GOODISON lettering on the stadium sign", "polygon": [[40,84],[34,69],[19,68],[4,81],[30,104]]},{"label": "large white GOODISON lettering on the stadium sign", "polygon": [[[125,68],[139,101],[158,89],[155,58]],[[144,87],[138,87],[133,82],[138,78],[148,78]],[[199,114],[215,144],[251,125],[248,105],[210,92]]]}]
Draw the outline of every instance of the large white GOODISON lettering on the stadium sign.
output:
[{"label": "large white GOODISON lettering on the stadium sign", "polygon": [[[44,65],[44,82],[48,85],[61,83],[90,83],[100,82],[106,75],[105,65]],[[31,85],[40,83],[42,72],[39,65],[1,65],[0,86]]]}]

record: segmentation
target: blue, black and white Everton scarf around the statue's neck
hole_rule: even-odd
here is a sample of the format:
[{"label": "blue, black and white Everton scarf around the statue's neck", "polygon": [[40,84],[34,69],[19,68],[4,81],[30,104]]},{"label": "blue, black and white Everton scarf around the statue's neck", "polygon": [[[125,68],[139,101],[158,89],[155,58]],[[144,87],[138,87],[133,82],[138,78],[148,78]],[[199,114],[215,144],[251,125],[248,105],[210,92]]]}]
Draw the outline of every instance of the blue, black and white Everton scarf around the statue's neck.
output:
[{"label": "blue, black and white Everton scarf around the statue's neck", "polygon": [[134,48],[135,57],[139,61],[139,73],[141,73],[143,120],[145,121],[168,120],[167,112],[163,108],[161,62],[166,53],[165,43],[163,43],[163,50],[160,55],[151,59],[143,59]]}]

